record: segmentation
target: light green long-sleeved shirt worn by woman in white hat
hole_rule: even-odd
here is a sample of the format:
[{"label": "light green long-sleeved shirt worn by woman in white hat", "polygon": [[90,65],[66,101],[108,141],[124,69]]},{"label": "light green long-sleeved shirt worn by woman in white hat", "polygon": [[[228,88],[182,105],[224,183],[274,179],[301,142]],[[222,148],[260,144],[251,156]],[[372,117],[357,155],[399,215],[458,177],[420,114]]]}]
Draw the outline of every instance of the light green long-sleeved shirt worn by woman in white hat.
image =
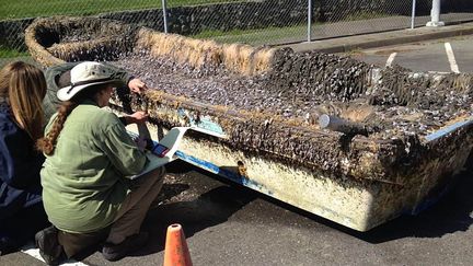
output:
[{"label": "light green long-sleeved shirt worn by woman in white hat", "polygon": [[146,163],[115,114],[92,101],[78,105],[41,172],[49,221],[71,233],[106,228],[129,193],[127,177],[140,173]]}]

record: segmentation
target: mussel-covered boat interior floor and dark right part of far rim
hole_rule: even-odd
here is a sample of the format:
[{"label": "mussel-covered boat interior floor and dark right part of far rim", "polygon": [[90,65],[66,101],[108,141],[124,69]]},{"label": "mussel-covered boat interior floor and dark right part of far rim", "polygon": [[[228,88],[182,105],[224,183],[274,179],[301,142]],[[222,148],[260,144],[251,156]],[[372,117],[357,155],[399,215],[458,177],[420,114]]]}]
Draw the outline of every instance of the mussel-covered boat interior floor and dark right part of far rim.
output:
[{"label": "mussel-covered boat interior floor and dark right part of far rim", "polygon": [[[223,67],[191,67],[146,50],[115,61],[150,88],[197,102],[235,109],[266,112],[316,124],[322,113],[355,119],[380,138],[425,135],[450,119],[469,115],[473,79],[470,74],[412,73],[387,68],[376,79],[373,66],[321,53],[279,50],[270,71],[242,76]],[[297,124],[297,123],[296,123]]]}]

